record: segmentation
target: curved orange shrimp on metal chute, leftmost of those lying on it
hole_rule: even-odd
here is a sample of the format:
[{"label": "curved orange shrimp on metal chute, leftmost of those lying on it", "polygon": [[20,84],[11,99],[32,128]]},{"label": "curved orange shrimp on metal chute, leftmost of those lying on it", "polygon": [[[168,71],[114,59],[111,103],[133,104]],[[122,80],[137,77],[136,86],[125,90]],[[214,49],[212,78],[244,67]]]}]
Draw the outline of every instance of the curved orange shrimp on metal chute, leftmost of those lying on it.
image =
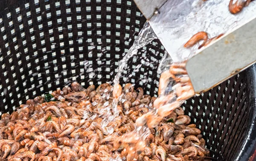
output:
[{"label": "curved orange shrimp on metal chute, leftmost of those lying on it", "polygon": [[199,49],[204,46],[204,44],[208,40],[208,35],[206,32],[198,32],[195,35],[193,35],[188,42],[185,43],[184,47],[189,48],[191,46],[194,46],[195,43],[197,43],[199,40],[204,40],[204,42],[199,46]]}]

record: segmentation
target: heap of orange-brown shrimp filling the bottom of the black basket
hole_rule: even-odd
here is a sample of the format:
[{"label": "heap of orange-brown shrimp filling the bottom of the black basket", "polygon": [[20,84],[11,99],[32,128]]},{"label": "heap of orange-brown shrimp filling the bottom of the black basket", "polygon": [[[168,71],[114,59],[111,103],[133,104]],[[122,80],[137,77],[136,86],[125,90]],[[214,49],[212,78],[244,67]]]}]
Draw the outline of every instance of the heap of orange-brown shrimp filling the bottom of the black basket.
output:
[{"label": "heap of orange-brown shrimp filling the bottom of the black basket", "polygon": [[51,99],[38,96],[11,115],[4,113],[0,120],[0,160],[190,161],[209,156],[201,131],[190,124],[182,108],[150,128],[145,140],[136,141],[136,151],[129,143],[121,144],[120,138],[134,131],[137,118],[153,109],[156,98],[144,95],[142,88],[135,90],[131,83],[125,84],[118,88],[120,117],[103,127],[102,109],[112,103],[113,89],[108,83],[84,89],[74,82],[71,88],[52,92]]}]

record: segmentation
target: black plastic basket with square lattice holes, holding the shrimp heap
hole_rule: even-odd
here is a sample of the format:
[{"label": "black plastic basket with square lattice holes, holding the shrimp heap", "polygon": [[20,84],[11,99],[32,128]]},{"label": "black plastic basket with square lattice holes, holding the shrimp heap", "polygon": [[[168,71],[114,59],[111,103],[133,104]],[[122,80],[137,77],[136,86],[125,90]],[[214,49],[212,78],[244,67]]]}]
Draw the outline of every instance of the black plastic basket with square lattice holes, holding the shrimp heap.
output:
[{"label": "black plastic basket with square lattice holes, holding the shrimp heap", "polygon": [[[1,114],[72,81],[97,86],[113,80],[144,23],[131,0],[0,0]],[[145,46],[129,60],[120,83],[156,95],[155,60],[163,53],[158,40]],[[183,104],[217,160],[245,161],[253,155],[255,71],[247,69]]]}]

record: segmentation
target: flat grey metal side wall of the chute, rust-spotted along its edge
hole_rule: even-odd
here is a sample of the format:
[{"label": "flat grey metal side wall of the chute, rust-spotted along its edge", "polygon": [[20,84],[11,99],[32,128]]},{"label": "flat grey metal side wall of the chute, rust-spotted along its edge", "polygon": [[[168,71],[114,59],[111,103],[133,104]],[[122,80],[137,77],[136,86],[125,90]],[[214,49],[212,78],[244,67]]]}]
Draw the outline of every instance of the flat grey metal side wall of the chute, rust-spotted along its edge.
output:
[{"label": "flat grey metal side wall of the chute, rust-spotted along its edge", "polygon": [[190,58],[186,70],[196,93],[211,89],[256,62],[256,18]]}]

